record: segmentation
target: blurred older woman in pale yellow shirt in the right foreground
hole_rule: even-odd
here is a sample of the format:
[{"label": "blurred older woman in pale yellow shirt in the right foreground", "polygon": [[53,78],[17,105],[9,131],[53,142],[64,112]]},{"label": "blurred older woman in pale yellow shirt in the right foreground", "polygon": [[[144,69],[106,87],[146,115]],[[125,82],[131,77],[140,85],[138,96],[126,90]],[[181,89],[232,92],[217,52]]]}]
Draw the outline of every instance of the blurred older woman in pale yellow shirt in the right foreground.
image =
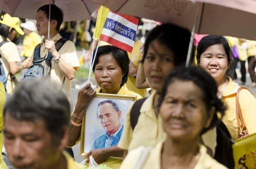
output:
[{"label": "blurred older woman in pale yellow shirt in the right foreground", "polygon": [[227,169],[207,154],[201,134],[218,123],[225,107],[214,79],[199,67],[180,68],[166,77],[159,97],[166,140],[128,153],[120,169]]}]

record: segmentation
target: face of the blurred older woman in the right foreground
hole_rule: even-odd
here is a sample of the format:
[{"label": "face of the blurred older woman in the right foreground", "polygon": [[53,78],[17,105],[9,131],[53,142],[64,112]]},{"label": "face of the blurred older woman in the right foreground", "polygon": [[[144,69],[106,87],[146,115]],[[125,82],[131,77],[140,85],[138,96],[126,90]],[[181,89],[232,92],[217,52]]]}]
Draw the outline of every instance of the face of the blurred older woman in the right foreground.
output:
[{"label": "face of the blurred older woman in the right foreground", "polygon": [[192,81],[180,80],[169,84],[160,115],[164,131],[175,140],[196,139],[212,119],[207,117],[201,89]]}]

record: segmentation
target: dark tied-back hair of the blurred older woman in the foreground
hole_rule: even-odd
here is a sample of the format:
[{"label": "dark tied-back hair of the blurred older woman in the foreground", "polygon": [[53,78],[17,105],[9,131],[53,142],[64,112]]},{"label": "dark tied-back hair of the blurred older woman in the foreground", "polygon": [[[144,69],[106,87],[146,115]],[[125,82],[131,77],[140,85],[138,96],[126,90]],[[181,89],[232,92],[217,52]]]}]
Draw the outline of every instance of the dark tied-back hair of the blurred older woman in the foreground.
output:
[{"label": "dark tied-back hair of the blurred older woman in the foreground", "polygon": [[160,105],[163,103],[164,97],[166,96],[168,86],[175,82],[175,80],[185,82],[191,81],[201,89],[204,94],[203,100],[207,111],[207,117],[210,116],[210,110],[212,107],[215,107],[215,114],[210,126],[207,129],[203,129],[201,134],[216,126],[219,122],[217,112],[220,113],[221,117],[223,117],[226,108],[224,103],[222,103],[221,99],[217,96],[218,86],[212,76],[198,66],[189,66],[187,68],[185,66],[180,66],[177,69],[174,69],[164,81],[160,95]]}]

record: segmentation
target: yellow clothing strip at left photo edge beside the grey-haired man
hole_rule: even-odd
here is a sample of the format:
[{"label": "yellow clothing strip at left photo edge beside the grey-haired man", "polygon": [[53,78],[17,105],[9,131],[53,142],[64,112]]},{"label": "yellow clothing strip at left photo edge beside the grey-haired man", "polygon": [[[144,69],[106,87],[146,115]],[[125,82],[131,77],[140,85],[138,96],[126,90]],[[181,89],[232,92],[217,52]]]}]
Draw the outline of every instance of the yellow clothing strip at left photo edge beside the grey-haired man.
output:
[{"label": "yellow clothing strip at left photo edge beside the grey-haired man", "polygon": [[3,161],[3,106],[6,101],[5,89],[3,83],[0,82],[0,169],[7,169],[6,163]]}]

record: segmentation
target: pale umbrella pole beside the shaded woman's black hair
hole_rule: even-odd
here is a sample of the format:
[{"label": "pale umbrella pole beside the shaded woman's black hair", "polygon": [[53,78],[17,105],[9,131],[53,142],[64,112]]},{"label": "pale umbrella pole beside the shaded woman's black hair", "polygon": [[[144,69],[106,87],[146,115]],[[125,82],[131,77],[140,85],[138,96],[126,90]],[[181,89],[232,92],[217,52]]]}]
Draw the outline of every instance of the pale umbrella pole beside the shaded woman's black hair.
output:
[{"label": "pale umbrella pole beside the shaded woman's black hair", "polygon": [[200,5],[198,3],[197,8],[196,8],[196,15],[195,15],[195,20],[193,23],[193,28],[192,28],[192,32],[191,32],[191,37],[190,37],[190,42],[189,42],[189,51],[188,51],[188,55],[187,55],[187,59],[186,59],[186,67],[189,66],[189,62],[191,60],[191,56],[192,56],[192,49],[193,49],[193,41],[194,41],[194,35],[195,35],[195,26],[197,24],[197,18],[199,15],[199,11],[200,11]]}]

